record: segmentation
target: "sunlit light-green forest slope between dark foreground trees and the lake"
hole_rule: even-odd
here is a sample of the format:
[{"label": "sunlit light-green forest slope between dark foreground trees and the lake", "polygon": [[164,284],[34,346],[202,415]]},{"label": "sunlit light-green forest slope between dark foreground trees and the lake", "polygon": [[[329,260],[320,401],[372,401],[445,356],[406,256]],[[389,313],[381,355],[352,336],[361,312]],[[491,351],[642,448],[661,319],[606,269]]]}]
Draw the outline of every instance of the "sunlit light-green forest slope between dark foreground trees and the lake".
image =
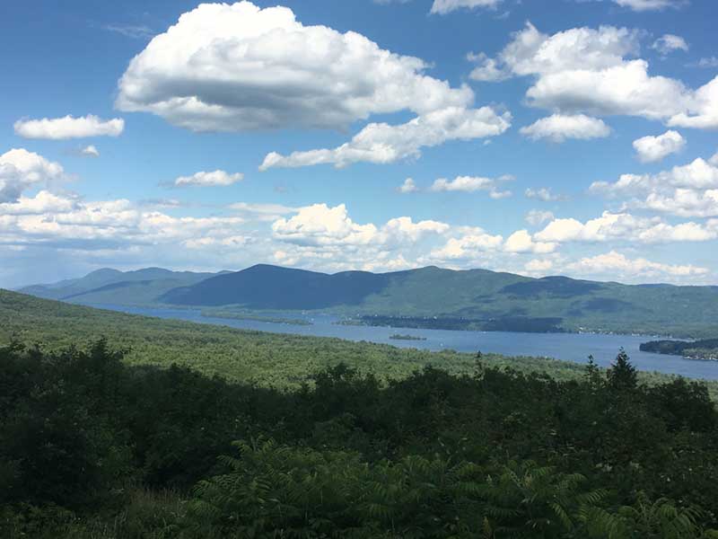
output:
[{"label": "sunlit light-green forest slope between dark foreground trees and the lake", "polygon": [[[106,337],[115,349],[127,350],[127,365],[177,364],[207,376],[282,389],[297,388],[307,373],[340,362],[362,373],[391,379],[409,376],[429,364],[451,374],[470,374],[476,362],[474,354],[451,349],[432,352],[372,342],[242,331],[70,305],[0,289],[0,343],[14,337],[28,345],[41,342],[45,349],[60,349],[88,344],[98,336]],[[586,356],[589,354],[591,350],[586,350]],[[482,361],[488,367],[512,367],[557,380],[582,376],[580,365],[550,358],[505,358],[485,353]],[[659,373],[641,372],[639,377],[646,384],[671,380]],[[706,384],[718,401],[718,382]]]}]

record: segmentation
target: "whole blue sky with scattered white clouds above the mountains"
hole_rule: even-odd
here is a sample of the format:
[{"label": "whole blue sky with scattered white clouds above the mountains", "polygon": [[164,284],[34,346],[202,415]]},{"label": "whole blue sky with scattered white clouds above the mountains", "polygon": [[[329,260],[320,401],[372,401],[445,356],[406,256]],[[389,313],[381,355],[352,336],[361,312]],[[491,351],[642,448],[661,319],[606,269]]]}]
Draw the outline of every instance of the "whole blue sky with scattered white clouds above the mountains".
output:
[{"label": "whole blue sky with scattered white clouds above the mountains", "polygon": [[2,14],[0,287],[256,263],[718,284],[714,0]]}]

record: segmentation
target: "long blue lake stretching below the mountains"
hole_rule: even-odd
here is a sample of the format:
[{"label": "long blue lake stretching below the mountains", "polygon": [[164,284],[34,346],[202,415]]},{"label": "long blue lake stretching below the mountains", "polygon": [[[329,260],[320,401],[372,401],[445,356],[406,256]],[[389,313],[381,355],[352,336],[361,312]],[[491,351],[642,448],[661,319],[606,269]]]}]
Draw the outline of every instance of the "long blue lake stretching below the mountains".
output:
[{"label": "long blue lake stretching below the mountains", "polygon": [[[131,314],[144,314],[159,318],[211,323],[242,330],[293,333],[318,337],[337,337],[346,340],[367,340],[391,344],[401,348],[454,349],[461,352],[495,352],[505,356],[535,356],[586,363],[591,354],[596,363],[607,367],[623,347],[635,367],[645,371],[658,371],[691,378],[718,380],[718,361],[698,361],[678,356],[663,356],[642,352],[639,345],[651,337],[641,335],[604,335],[594,333],[518,333],[506,331],[450,331],[416,330],[407,328],[372,327],[337,324],[337,316],[330,314],[262,313],[262,316],[299,318],[312,325],[266,323],[254,320],[231,320],[202,316],[197,310],[156,309],[124,305],[92,305]],[[393,334],[414,335],[425,340],[392,340]]]}]

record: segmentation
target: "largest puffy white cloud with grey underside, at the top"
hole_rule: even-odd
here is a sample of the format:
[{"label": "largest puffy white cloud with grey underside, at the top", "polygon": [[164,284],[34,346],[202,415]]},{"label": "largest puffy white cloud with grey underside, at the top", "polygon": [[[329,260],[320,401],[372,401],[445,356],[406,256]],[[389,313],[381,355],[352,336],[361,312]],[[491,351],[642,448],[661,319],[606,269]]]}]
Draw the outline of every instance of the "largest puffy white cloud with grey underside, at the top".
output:
[{"label": "largest puffy white cloud with grey underside, at the top", "polygon": [[200,4],[130,62],[120,110],[198,131],[345,128],[372,114],[466,107],[471,90],[354,31],[304,26],[291,9]]}]

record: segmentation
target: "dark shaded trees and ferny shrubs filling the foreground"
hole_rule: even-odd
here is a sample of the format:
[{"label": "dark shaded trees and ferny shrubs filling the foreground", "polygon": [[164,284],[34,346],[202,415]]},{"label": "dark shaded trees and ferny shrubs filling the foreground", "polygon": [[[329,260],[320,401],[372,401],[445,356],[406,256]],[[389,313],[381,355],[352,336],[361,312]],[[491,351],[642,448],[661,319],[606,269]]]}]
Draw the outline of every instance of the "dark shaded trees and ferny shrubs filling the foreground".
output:
[{"label": "dark shaded trees and ferny shrubs filling the foreground", "polygon": [[718,537],[714,402],[623,353],[563,382],[339,363],[283,391],[13,341],[0,384],[11,539]]}]

